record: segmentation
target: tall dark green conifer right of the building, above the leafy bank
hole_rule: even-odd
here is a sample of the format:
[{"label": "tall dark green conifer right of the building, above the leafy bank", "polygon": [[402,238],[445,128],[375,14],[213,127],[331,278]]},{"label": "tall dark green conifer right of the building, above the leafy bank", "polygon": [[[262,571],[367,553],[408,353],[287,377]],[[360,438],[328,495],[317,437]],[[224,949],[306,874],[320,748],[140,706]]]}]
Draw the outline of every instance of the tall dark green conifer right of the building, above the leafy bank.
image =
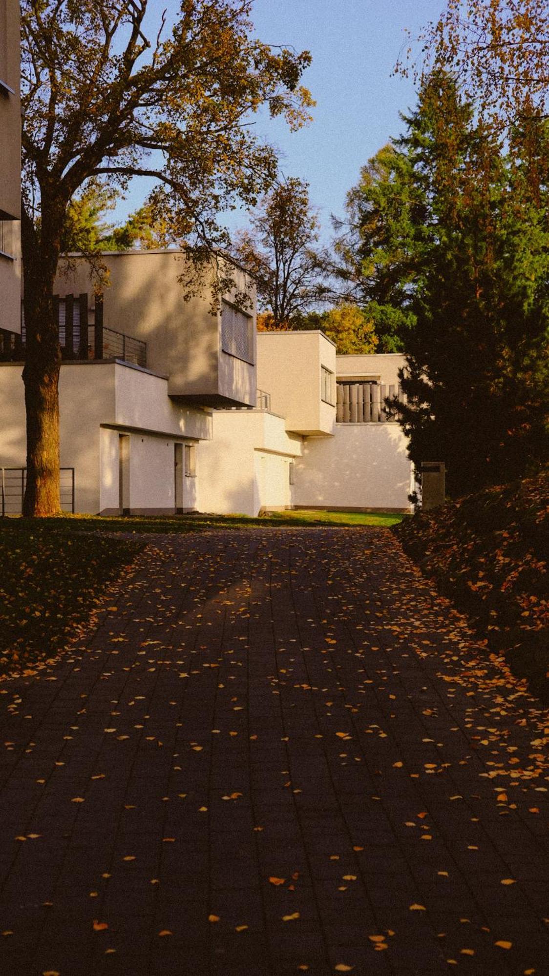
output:
[{"label": "tall dark green conifer right of the building, above the leafy bank", "polygon": [[[405,121],[396,148],[414,188],[401,249],[413,327],[396,406],[412,460],[445,461],[456,495],[547,452],[549,134],[539,123],[535,160],[528,129],[504,149],[441,72]],[[382,235],[385,210],[373,216]]]}]

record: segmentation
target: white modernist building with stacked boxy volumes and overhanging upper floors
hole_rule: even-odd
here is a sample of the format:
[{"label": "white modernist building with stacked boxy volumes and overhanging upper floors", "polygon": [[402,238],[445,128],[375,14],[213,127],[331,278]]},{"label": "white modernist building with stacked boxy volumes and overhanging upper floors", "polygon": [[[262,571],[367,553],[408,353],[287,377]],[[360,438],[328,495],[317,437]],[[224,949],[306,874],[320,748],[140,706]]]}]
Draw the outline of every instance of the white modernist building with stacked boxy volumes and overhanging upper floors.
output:
[{"label": "white modernist building with stacked boxy volumes and overhanging upper floors", "polygon": [[[412,468],[384,409],[400,355],[337,356],[321,332],[256,333],[235,268],[220,308],[189,302],[184,251],[105,255],[109,286],[60,274],[63,507],[114,514],[280,508],[407,510]],[[0,473],[21,506],[24,325],[0,330]]]}]

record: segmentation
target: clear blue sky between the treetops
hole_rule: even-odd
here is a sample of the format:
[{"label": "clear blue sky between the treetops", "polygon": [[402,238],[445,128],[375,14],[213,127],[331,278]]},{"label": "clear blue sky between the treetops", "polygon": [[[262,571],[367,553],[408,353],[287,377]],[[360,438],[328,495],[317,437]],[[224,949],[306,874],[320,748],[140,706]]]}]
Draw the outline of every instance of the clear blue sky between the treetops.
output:
[{"label": "clear blue sky between the treetops", "polygon": [[[153,0],[153,6],[162,10],[165,0]],[[263,115],[256,126],[258,136],[278,148],[281,172],[310,183],[324,238],[330,236],[330,214],[343,216],[360,166],[399,135],[399,111],[415,102],[412,81],[393,74],[405,28],[416,36],[444,6],[443,0],[255,0],[261,40],[313,56],[303,79],[317,101],[311,125],[290,133],[281,120]],[[134,210],[145,193],[144,183],[134,182],[115,217]],[[231,214],[227,223],[232,229],[244,225],[246,215]]]}]

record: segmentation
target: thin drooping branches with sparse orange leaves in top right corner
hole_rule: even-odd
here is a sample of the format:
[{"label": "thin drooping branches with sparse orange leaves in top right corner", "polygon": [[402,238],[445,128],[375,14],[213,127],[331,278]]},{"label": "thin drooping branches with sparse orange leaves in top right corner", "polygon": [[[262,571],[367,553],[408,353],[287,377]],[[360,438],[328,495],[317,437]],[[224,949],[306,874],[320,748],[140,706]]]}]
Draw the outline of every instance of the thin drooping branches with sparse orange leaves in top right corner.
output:
[{"label": "thin drooping branches with sparse orange leaves in top right corner", "polygon": [[[419,41],[415,78],[423,85],[433,71],[451,73],[485,125],[509,130],[517,120],[547,116],[546,0],[446,0]],[[408,73],[411,55],[409,47],[398,71]]]}]

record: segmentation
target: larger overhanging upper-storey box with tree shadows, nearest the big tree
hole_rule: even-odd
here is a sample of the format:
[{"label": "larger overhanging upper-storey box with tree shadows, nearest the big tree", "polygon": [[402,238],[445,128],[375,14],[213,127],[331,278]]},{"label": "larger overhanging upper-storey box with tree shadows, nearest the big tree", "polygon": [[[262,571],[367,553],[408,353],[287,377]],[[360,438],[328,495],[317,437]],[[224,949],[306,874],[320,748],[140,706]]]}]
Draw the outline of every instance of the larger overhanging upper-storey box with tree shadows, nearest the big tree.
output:
[{"label": "larger overhanging upper-storey box with tree shadows, nearest the big tree", "polygon": [[[103,261],[104,325],[147,343],[148,369],[168,378],[169,396],[195,406],[255,406],[255,291],[240,268],[233,277],[236,291],[249,294],[245,310],[235,292],[216,309],[206,276],[201,291],[185,301],[185,251],[106,252]],[[68,255],[56,292],[61,298],[88,293],[93,301],[93,291],[90,265]]]}]

